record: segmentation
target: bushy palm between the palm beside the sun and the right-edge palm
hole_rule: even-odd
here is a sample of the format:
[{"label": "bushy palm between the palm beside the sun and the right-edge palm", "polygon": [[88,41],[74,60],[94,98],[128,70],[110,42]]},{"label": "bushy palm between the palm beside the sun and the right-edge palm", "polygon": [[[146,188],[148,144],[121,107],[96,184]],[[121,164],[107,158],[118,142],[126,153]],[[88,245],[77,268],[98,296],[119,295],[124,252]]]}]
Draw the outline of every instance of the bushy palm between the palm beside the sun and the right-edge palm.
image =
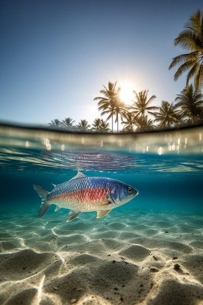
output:
[{"label": "bushy palm between the palm beside the sun and the right-edge palm", "polygon": [[177,105],[162,101],[159,107],[159,112],[155,112],[154,122],[159,122],[159,127],[170,128],[180,123],[180,111],[177,110]]}]

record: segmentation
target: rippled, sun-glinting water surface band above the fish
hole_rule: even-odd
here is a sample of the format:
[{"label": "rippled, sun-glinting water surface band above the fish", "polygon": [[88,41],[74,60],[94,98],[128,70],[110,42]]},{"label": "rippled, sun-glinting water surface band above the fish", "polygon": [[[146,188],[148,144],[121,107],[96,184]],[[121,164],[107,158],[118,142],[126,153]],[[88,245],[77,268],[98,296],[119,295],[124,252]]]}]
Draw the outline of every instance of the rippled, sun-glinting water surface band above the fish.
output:
[{"label": "rippled, sun-glinting water surface band above the fish", "polygon": [[[73,170],[203,171],[203,127],[150,133],[70,133],[0,125],[0,163]],[[184,156],[187,158],[184,159]],[[188,158],[188,156],[193,156]],[[170,156],[170,157],[169,157]],[[175,164],[172,156],[179,156]],[[196,160],[194,161],[194,156]],[[193,162],[194,161],[194,162]],[[16,162],[16,163],[15,163]]]}]

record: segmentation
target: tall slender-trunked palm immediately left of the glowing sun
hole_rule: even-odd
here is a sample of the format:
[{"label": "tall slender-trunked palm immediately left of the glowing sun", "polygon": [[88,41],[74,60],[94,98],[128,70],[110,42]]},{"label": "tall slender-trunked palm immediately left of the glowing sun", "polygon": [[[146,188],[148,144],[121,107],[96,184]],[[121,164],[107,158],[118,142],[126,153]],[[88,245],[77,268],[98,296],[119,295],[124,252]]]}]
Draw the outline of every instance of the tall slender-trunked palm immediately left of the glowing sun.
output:
[{"label": "tall slender-trunked palm immediately left of the glowing sun", "polygon": [[117,93],[116,93],[116,83],[114,84],[109,81],[108,88],[104,87],[104,89],[100,90],[99,92],[103,94],[104,96],[97,96],[94,98],[94,100],[98,100],[98,110],[102,111],[101,115],[109,114],[107,117],[107,120],[111,118],[111,126],[112,126],[112,132],[113,132],[113,114],[115,114],[114,109],[117,104]]}]

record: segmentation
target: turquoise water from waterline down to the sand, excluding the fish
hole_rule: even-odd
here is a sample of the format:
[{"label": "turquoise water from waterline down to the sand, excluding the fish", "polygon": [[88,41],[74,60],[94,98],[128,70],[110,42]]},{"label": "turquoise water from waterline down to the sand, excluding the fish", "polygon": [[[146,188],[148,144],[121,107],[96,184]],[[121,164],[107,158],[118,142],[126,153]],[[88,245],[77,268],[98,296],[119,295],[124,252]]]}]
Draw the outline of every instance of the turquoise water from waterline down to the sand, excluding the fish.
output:
[{"label": "turquoise water from waterline down to the sand, excluding the fish", "polygon": [[0,132],[1,210],[37,212],[40,200],[32,184],[51,191],[52,183],[77,171],[116,178],[139,190],[118,208],[126,213],[203,210],[203,127],[133,135],[15,126],[1,126]]}]

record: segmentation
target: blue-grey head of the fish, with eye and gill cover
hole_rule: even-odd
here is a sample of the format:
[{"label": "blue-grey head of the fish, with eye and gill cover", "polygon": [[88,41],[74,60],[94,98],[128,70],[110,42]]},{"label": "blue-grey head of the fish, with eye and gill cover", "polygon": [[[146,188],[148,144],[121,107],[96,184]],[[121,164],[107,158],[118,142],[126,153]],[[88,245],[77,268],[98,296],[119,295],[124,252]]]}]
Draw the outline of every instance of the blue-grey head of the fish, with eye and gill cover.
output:
[{"label": "blue-grey head of the fish, with eye and gill cover", "polygon": [[135,188],[121,181],[117,181],[109,191],[109,199],[111,203],[121,206],[132,200],[138,193],[139,191]]}]

